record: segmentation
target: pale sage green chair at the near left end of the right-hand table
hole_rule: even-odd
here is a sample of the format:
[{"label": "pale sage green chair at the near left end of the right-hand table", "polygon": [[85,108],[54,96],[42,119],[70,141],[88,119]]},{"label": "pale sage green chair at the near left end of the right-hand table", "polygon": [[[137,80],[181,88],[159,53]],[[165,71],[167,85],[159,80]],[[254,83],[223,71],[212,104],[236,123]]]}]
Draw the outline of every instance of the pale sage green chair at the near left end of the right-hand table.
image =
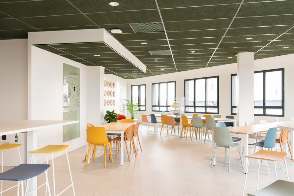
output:
[{"label": "pale sage green chair at the near left end of the right-hand table", "polygon": [[239,149],[240,159],[242,168],[244,168],[243,164],[243,156],[240,144],[234,144],[232,141],[231,133],[228,128],[224,127],[214,127],[213,128],[213,141],[216,143],[213,159],[211,163],[211,167],[213,167],[213,163],[215,161],[215,156],[217,154],[217,148],[223,147],[225,148],[224,151],[224,164],[227,163],[227,148],[229,149],[229,172],[231,171],[231,148],[237,147]]}]

